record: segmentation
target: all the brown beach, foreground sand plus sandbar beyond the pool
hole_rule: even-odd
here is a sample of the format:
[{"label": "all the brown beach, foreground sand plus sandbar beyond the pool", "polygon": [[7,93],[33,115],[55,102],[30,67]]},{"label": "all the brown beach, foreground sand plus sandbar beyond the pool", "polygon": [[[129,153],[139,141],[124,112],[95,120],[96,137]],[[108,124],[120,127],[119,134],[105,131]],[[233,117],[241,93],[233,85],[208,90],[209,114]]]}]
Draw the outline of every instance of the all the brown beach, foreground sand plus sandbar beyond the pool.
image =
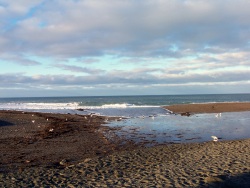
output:
[{"label": "all the brown beach, foreground sand plus sandbar beyond the pool", "polygon": [[[165,107],[173,113],[250,111],[250,103]],[[229,111],[230,110],[230,111]],[[109,121],[122,121],[119,117]],[[1,187],[249,187],[250,139],[145,147],[107,117],[0,111]]]}]

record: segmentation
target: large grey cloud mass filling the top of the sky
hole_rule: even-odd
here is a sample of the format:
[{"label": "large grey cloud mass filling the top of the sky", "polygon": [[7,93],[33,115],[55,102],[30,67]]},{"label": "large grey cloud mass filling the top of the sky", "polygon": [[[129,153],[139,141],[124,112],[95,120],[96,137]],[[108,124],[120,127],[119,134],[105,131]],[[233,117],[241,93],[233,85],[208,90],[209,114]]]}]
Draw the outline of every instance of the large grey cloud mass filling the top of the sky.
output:
[{"label": "large grey cloud mass filling the top of the sky", "polygon": [[250,16],[246,8],[250,2],[244,0],[41,2],[10,6],[12,12],[27,15],[32,6],[40,3],[31,17],[18,20],[4,33],[11,49],[80,57],[176,56],[172,45],[179,51],[196,52],[206,51],[206,45],[220,46],[224,51],[239,46],[249,48],[250,26],[245,18]]}]

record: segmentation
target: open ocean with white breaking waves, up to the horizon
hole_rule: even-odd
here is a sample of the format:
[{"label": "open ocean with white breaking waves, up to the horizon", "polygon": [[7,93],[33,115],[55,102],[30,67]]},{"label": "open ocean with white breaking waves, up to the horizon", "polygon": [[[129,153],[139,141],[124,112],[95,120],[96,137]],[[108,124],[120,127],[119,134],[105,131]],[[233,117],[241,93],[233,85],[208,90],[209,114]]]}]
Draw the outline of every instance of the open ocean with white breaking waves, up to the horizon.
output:
[{"label": "open ocean with white breaking waves, up to the horizon", "polygon": [[173,104],[246,101],[250,101],[250,94],[29,97],[0,98],[0,109],[131,117],[152,115],[152,110],[157,113],[159,107]]}]

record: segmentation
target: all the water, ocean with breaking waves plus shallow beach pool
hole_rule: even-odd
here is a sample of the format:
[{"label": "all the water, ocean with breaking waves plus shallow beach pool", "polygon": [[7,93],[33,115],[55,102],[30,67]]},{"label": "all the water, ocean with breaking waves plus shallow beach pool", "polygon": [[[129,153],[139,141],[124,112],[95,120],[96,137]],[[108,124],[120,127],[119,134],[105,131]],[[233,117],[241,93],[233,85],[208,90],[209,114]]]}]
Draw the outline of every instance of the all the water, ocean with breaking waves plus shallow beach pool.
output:
[{"label": "all the water, ocean with breaking waves plus shallow beach pool", "polygon": [[0,109],[122,116],[110,122],[117,135],[135,142],[203,142],[250,137],[250,112],[183,117],[162,108],[172,104],[250,102],[250,94],[0,98]]}]

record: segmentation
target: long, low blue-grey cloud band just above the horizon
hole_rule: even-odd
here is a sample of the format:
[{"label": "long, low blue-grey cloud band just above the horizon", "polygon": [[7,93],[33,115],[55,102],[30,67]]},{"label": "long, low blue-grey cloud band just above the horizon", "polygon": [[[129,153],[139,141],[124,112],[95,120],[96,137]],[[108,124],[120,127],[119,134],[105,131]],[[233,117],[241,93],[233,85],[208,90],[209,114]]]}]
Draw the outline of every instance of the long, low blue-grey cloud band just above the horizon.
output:
[{"label": "long, low blue-grey cloud band just above the horizon", "polygon": [[[151,72],[150,72],[151,71]],[[197,84],[197,83],[227,83],[227,82],[249,82],[250,70],[242,71],[217,71],[193,74],[153,74],[155,70],[144,70],[134,72],[106,73],[105,75],[33,75],[24,74],[2,74],[0,75],[0,86],[6,85],[72,85],[72,86],[93,86],[118,84],[118,85],[157,85],[157,84]],[[147,72],[147,73],[146,73]]]}]

